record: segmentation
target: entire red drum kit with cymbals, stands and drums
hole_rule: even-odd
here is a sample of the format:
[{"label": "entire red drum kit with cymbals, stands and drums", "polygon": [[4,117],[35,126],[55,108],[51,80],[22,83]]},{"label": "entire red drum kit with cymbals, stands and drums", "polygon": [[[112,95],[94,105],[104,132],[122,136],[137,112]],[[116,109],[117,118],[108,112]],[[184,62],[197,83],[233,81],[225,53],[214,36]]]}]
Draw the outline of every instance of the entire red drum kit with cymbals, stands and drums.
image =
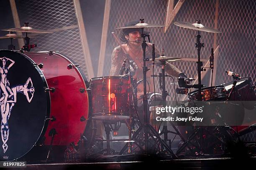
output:
[{"label": "entire red drum kit with cymbals, stands and drums", "polygon": [[[196,36],[198,84],[189,85],[191,78],[179,77],[179,87],[198,89],[187,93],[189,101],[256,100],[253,91],[255,86],[250,77],[238,80],[236,74],[231,74],[234,78],[233,83],[206,88],[201,84],[201,72],[205,68],[201,68],[202,61],[200,61],[200,50],[204,47],[203,43],[200,42],[200,31],[212,33],[220,33],[220,31],[205,27],[200,23],[200,20],[192,24],[174,22],[174,25],[197,30],[198,33]],[[110,131],[118,130],[120,126],[117,127],[117,122],[122,122],[128,127],[129,139],[125,141],[126,144],[118,154],[136,152],[134,148],[137,146],[142,153],[148,154],[151,153],[150,150],[154,150],[155,153],[167,153],[173,158],[177,158],[171,146],[167,145],[167,133],[169,133],[167,126],[164,125],[161,134],[159,134],[147,119],[146,72],[148,67],[146,67],[146,62],[158,62],[161,65],[161,73],[153,75],[153,77],[158,76],[161,79],[163,107],[165,107],[168,95],[165,87],[165,77],[168,76],[165,74],[166,62],[182,60],[178,57],[166,57],[163,52],[161,56],[156,57],[154,49],[152,59],[146,58],[146,37],[148,37],[149,42],[150,38],[148,34],[143,33],[144,28],[157,27],[164,27],[164,25],[149,25],[141,19],[140,23],[134,26],[117,28],[141,29],[143,39],[143,125],[138,120],[136,87],[138,82],[136,78],[126,74],[125,76],[94,77],[88,82],[79,65],[76,65],[74,61],[60,52],[29,52],[31,48],[37,45],[30,44],[31,37],[28,37],[28,33],[51,32],[33,29],[28,26],[28,23],[25,23],[21,28],[5,29],[5,31],[9,31],[9,34],[0,37],[0,39],[10,38],[11,44],[8,45],[8,50],[0,50],[0,60],[3,62],[0,68],[2,77],[0,82],[1,135],[3,141],[0,160],[17,160],[26,155],[32,148],[45,145],[49,147],[46,158],[46,161],[49,161],[54,146],[66,147],[70,144],[76,151],[78,150],[77,145],[79,145],[80,159],[82,160],[83,156],[90,155],[90,147],[97,130],[95,128],[96,120],[102,121],[105,126],[107,149],[103,151],[107,151],[107,155],[113,153],[110,148]],[[13,32],[25,32],[26,36],[19,36]],[[26,40],[26,44],[20,50],[15,50],[15,46],[13,46],[12,40],[15,38]],[[212,70],[213,57],[212,52],[210,67],[208,67]],[[5,82],[3,82],[3,76]],[[239,127],[238,133],[251,130],[251,125],[256,122],[250,123],[250,125]],[[113,128],[113,124],[115,128]],[[137,129],[135,128],[136,125],[139,126]],[[185,141],[176,126],[173,124],[172,126],[175,133],[180,135],[184,142],[181,148],[189,148],[187,144],[191,141]],[[164,134],[164,139],[161,138],[162,134]],[[83,147],[86,147],[85,152],[82,152],[84,149],[81,148]],[[203,148],[200,147],[201,152],[202,150]],[[179,152],[181,151],[179,150]]]}]

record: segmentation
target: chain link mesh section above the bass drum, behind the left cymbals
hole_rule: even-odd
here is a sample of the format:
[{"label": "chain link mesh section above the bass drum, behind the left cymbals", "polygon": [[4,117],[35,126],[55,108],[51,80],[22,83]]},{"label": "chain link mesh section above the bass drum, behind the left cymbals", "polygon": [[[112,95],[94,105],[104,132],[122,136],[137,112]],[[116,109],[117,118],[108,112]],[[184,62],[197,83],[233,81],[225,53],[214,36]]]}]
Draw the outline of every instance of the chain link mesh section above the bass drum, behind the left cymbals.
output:
[{"label": "chain link mesh section above the bass drum, behind the left cymbals", "polygon": [[72,29],[61,30],[49,34],[38,34],[31,38],[31,44],[38,46],[33,52],[60,51],[80,65],[88,77],[77,17],[73,0],[16,0],[20,24],[28,22],[35,29],[52,30],[68,26]]}]

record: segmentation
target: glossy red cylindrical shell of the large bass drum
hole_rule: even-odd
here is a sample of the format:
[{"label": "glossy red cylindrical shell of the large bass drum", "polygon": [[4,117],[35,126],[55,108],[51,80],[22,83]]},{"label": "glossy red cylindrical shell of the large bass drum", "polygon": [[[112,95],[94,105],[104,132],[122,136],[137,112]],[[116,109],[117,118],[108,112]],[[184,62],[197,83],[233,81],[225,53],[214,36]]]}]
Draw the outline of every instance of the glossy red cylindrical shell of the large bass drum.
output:
[{"label": "glossy red cylindrical shell of the large bass drum", "polygon": [[[54,88],[50,92],[51,112],[50,118],[55,117],[55,121],[48,121],[45,125],[44,145],[50,145],[51,136],[49,131],[55,129],[53,145],[69,145],[71,142],[77,143],[81,133],[84,133],[87,121],[81,122],[89,116],[89,97],[87,94],[86,79],[77,67],[67,67],[74,63],[64,55],[53,52],[27,52],[25,53],[37,64],[42,63],[41,71],[46,78],[49,88]],[[47,122],[47,121],[46,121]]]}]

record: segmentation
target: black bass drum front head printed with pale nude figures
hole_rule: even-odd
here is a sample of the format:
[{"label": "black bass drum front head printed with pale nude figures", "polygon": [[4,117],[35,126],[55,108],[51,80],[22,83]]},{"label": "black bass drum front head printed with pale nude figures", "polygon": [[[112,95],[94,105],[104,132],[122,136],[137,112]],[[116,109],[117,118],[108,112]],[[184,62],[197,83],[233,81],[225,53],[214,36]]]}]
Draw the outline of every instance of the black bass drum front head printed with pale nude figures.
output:
[{"label": "black bass drum front head printed with pale nude figures", "polygon": [[50,97],[41,70],[20,52],[0,50],[0,73],[0,160],[16,160],[43,132]]}]

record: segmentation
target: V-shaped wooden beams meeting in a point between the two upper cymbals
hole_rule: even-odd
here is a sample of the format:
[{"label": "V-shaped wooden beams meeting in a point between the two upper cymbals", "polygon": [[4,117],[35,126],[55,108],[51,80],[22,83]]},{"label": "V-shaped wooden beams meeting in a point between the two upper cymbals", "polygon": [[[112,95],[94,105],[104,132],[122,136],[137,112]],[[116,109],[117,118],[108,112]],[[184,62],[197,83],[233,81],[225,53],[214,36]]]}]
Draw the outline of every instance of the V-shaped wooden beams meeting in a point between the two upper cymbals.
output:
[{"label": "V-shaped wooden beams meeting in a point between the two upper cymbals", "polygon": [[185,0],[179,0],[177,2],[177,4],[175,5],[174,9],[172,9],[174,4],[171,1],[173,1],[173,0],[168,1],[166,20],[165,20],[166,27],[164,27],[164,33],[168,30],[168,28],[171,25],[172,21],[174,20],[175,16],[177,15],[177,13],[179,12],[183,3],[185,2]]}]

